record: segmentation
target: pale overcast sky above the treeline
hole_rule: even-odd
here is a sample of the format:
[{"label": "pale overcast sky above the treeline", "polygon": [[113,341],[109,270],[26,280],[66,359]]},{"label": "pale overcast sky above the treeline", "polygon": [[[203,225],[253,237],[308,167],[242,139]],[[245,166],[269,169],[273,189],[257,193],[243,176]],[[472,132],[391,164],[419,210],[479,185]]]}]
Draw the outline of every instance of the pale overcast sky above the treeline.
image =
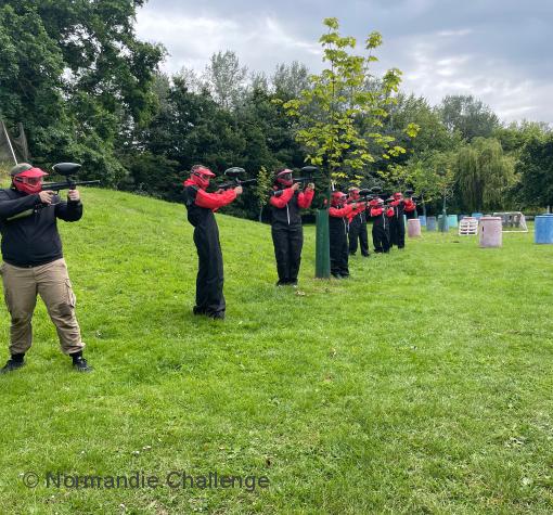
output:
[{"label": "pale overcast sky above the treeline", "polygon": [[167,48],[168,73],[203,70],[219,50],[268,75],[294,60],[317,73],[324,17],[360,43],[378,30],[380,66],[432,104],[473,94],[504,121],[553,123],[553,0],[150,0],[137,31]]}]

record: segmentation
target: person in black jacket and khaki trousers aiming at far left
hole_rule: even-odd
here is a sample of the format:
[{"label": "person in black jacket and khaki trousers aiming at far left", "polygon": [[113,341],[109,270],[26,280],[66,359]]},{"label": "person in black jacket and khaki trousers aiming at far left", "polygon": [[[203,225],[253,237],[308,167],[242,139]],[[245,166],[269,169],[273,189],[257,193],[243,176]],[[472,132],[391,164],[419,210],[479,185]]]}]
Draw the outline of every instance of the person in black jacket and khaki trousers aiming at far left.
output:
[{"label": "person in black jacket and khaki trousers aiming at far left", "polygon": [[79,372],[92,368],[82,357],[85,344],[75,317],[67,266],[57,232],[57,218],[77,221],[82,204],[77,190],[69,190],[68,202],[60,201],[52,191],[42,191],[40,168],[27,163],[11,170],[12,186],[0,190],[1,267],[5,304],[11,316],[11,358],[0,373],[20,369],[31,346],[31,319],[40,295],[54,323],[62,351],[73,359]]}]

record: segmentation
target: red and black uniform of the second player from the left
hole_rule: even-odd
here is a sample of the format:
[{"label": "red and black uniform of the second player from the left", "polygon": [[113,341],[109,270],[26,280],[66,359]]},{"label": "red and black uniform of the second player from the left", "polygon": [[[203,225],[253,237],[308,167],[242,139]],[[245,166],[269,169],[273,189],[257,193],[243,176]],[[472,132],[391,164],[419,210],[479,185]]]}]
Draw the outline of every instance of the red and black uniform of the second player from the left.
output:
[{"label": "red and black uniform of the second player from the left", "polygon": [[192,178],[184,181],[184,203],[189,222],[194,226],[198,258],[194,313],[224,318],[222,253],[214,211],[234,201],[236,193],[206,193],[204,188]]}]

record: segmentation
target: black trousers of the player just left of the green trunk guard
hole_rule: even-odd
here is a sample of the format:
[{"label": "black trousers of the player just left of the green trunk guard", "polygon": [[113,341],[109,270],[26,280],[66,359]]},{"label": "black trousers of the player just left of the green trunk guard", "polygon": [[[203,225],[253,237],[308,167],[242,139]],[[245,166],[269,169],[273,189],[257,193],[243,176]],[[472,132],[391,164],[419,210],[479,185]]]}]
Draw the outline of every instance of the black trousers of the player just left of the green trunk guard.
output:
[{"label": "black trousers of the player just left of the green trunk guard", "polygon": [[294,284],[297,282],[301,262],[304,228],[301,226],[273,226],[271,234],[279,284]]}]

